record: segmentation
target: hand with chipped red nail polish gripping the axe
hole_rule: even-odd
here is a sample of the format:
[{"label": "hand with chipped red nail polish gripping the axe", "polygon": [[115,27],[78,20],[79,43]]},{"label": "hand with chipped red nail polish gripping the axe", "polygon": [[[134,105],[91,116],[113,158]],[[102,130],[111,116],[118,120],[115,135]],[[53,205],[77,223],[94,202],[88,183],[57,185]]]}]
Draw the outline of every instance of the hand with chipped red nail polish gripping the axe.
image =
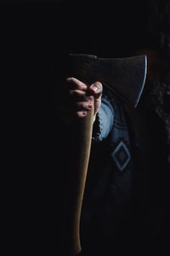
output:
[{"label": "hand with chipped red nail polish gripping the axe", "polygon": [[88,111],[93,108],[94,96],[94,119],[99,111],[102,96],[102,84],[95,82],[88,86],[75,78],[65,80],[64,88],[59,95],[57,110],[59,118],[69,124],[74,119],[84,118]]}]

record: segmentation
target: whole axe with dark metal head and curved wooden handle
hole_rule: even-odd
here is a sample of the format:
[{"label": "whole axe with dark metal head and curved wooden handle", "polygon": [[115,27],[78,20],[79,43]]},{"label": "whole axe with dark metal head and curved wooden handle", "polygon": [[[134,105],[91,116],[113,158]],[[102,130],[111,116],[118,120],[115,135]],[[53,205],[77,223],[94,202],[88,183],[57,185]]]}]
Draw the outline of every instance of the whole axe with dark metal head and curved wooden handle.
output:
[{"label": "whole axe with dark metal head and curved wooden handle", "polygon": [[[108,86],[116,96],[134,108],[144,88],[146,78],[146,55],[128,58],[105,59],[95,55],[68,56],[68,76],[90,85],[96,81]],[[67,77],[68,77],[67,76]],[[66,255],[76,256],[81,248],[80,218],[86,183],[88,160],[94,124],[94,108],[85,118],[77,120],[72,128],[69,193],[66,198]]]}]

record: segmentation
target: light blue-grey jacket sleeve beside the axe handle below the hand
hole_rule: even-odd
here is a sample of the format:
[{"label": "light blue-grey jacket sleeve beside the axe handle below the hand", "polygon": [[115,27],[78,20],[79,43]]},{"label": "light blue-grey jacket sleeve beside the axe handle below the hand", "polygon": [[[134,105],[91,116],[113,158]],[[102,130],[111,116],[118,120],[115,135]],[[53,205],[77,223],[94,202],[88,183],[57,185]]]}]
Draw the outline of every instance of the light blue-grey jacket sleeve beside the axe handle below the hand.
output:
[{"label": "light blue-grey jacket sleeve beside the axe handle below the hand", "polygon": [[114,109],[111,102],[102,96],[101,106],[96,115],[93,129],[92,142],[101,142],[108,137],[114,122]]}]

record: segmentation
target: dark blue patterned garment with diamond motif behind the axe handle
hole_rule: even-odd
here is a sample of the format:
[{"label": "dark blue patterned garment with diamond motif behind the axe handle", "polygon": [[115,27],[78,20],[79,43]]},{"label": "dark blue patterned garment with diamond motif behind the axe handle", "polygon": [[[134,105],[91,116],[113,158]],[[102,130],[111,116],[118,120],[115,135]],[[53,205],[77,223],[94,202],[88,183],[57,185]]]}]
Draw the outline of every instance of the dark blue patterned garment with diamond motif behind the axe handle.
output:
[{"label": "dark blue patterned garment with diamond motif behind the axe handle", "polygon": [[132,153],[123,104],[112,91],[105,90],[104,85],[101,108],[94,124],[82,204],[83,247],[91,247],[94,237],[97,243],[102,237],[101,242],[108,244],[113,237],[124,240],[125,234],[129,236],[132,173]]}]

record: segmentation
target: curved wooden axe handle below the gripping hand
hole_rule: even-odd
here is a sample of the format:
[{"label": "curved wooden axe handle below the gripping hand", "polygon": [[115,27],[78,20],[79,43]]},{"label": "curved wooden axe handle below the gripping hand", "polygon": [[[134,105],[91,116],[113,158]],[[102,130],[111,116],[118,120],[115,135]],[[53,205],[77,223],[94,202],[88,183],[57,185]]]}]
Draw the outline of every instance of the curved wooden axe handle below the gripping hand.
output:
[{"label": "curved wooden axe handle below the gripping hand", "polygon": [[[76,256],[81,252],[80,218],[82,199],[88,172],[88,160],[91,148],[94,124],[94,108],[88,111],[85,118],[77,120],[73,126],[71,152],[71,170],[69,177],[69,207],[67,210],[67,249],[69,256]],[[67,199],[68,200],[68,199]]]}]

